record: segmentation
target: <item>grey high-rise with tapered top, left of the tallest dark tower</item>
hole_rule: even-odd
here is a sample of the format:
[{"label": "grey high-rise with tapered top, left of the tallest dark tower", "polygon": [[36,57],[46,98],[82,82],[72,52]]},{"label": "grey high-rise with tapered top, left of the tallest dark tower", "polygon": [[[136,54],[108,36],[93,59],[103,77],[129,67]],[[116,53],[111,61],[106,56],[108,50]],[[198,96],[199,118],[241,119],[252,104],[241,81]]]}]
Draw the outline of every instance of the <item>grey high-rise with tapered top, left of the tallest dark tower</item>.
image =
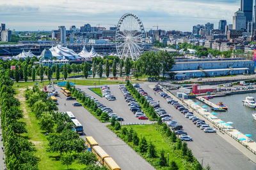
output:
[{"label": "grey high-rise with tapered top, left of the tallest dark tower", "polygon": [[237,31],[242,31],[243,29],[246,29],[246,16],[244,15],[244,12],[240,9],[236,11],[233,17],[233,29],[236,29]]}]

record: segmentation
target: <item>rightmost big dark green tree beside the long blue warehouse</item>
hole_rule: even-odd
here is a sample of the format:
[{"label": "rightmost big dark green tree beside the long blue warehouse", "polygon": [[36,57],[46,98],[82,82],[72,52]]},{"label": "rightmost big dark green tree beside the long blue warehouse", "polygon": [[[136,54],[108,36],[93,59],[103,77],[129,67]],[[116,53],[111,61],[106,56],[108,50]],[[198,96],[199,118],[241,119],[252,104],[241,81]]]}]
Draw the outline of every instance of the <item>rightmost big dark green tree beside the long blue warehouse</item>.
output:
[{"label": "rightmost big dark green tree beside the long blue warehouse", "polygon": [[159,52],[157,52],[157,55],[163,66],[163,78],[164,78],[164,74],[168,73],[168,71],[170,71],[175,64],[174,57],[172,57],[172,55],[166,50],[164,51],[160,50]]}]

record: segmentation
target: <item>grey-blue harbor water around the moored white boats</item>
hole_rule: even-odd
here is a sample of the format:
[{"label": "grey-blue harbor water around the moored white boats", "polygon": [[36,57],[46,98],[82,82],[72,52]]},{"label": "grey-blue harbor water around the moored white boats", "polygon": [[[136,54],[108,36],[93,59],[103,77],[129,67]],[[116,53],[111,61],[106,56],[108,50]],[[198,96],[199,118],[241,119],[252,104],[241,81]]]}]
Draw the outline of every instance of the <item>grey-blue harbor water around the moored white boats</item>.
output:
[{"label": "grey-blue harbor water around the moored white boats", "polygon": [[[252,117],[252,113],[256,113],[256,110],[254,108],[243,106],[242,103],[247,96],[252,96],[256,99],[256,93],[250,93],[214,97],[214,99],[209,99],[209,101],[215,104],[218,104],[221,101],[225,106],[228,106],[228,111],[226,112],[215,112],[217,113],[216,117],[225,122],[233,122],[234,124],[232,124],[232,127],[243,134],[252,134],[252,139],[256,141],[256,120]],[[207,106],[200,101],[196,100],[196,102],[199,103],[200,106]],[[206,109],[209,112],[212,112],[210,108]]]}]

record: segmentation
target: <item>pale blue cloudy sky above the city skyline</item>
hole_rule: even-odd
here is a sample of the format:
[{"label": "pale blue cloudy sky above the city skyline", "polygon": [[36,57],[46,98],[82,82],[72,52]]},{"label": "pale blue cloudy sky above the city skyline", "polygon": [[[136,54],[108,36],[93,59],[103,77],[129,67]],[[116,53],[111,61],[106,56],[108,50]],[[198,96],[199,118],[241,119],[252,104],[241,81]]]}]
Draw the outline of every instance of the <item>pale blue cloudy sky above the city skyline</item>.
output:
[{"label": "pale blue cloudy sky above the city skyline", "polygon": [[241,0],[1,0],[0,23],[16,31],[51,31],[65,25],[113,27],[125,13],[140,17],[145,30],[192,31],[221,19],[232,24]]}]

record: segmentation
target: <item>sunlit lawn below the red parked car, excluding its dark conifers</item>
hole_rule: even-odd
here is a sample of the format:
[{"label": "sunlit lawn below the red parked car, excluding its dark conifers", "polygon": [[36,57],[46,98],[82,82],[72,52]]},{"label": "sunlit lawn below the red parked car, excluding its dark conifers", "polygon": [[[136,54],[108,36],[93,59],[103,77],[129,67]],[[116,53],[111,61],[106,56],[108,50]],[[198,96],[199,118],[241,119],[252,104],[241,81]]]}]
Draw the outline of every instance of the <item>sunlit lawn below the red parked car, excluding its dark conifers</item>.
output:
[{"label": "sunlit lawn below the red parked car, excluding its dark conifers", "polygon": [[[152,125],[125,125],[122,127],[126,127],[127,129],[132,129],[138,134],[139,138],[145,137],[147,142],[151,141],[154,146],[156,146],[157,154],[159,155],[160,151],[163,149],[165,156],[167,157],[167,153],[169,153],[169,164],[172,161],[175,161],[179,169],[193,169],[193,164],[186,162],[186,160],[182,159],[182,155],[180,155],[179,150],[173,150],[175,148],[176,143],[172,143],[170,139],[163,136],[161,132],[161,127],[157,124]],[[120,136],[120,131],[114,131],[118,136]],[[134,147],[132,143],[128,143],[134,150],[137,150],[136,146]],[[140,153],[144,159],[146,159],[152,166],[156,167],[156,169],[161,169],[158,167],[156,159],[149,159],[147,155],[143,155]]]}]

